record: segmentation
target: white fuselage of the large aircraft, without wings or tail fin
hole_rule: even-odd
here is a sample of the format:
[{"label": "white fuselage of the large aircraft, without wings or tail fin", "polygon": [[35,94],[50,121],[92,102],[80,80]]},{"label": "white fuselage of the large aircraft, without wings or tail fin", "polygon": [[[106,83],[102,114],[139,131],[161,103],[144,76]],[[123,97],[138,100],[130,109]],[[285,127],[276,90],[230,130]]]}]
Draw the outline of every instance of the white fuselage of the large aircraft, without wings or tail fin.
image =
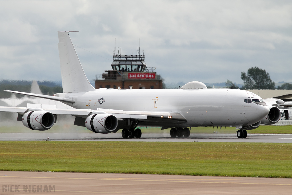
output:
[{"label": "white fuselage of the large aircraft, without wings or tail fin", "polygon": [[[268,113],[267,106],[244,102],[256,94],[238,89],[97,89],[64,93],[77,109],[178,112],[187,120],[180,127],[251,125]],[[150,126],[149,124],[147,124]],[[153,124],[155,126],[155,124]]]}]

